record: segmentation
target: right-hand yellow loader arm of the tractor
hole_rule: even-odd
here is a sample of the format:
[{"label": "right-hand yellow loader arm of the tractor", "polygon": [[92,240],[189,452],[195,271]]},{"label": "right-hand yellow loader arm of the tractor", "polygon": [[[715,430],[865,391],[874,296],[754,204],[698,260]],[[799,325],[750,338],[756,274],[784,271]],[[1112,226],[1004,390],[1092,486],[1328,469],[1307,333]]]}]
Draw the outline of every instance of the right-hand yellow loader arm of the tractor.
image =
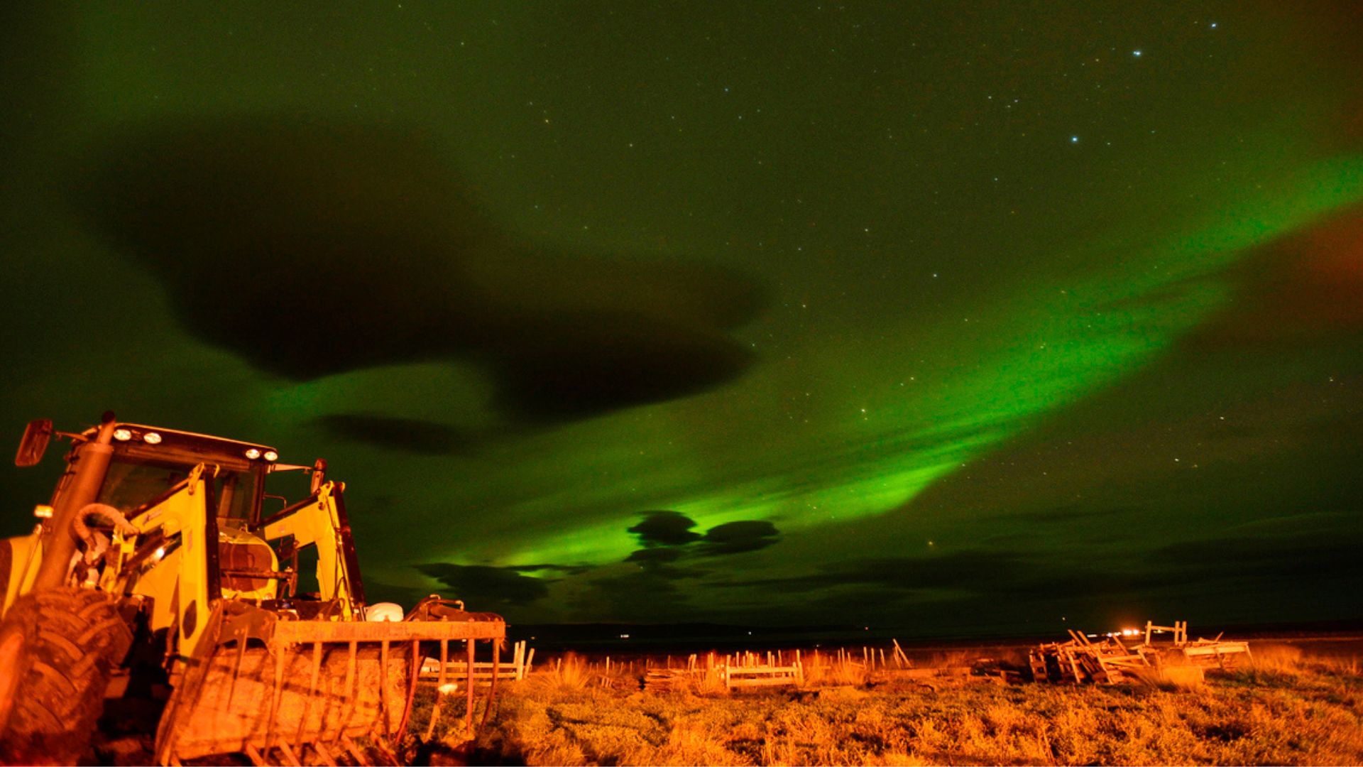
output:
[{"label": "right-hand yellow loader arm of the tractor", "polygon": [[267,520],[262,535],[266,540],[292,535],[300,549],[316,545],[320,596],[327,602],[337,600],[341,605],[341,620],[353,621],[363,618],[360,611],[364,606],[364,587],[345,515],[343,493],[343,483],[323,483],[312,498]]}]

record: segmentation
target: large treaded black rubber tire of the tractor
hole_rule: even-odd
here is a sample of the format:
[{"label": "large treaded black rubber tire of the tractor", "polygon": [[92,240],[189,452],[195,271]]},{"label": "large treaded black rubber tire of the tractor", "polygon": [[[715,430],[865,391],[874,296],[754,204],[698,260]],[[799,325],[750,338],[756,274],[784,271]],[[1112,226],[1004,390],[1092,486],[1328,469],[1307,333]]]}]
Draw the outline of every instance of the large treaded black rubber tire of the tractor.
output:
[{"label": "large treaded black rubber tire of the tractor", "polygon": [[104,592],[57,588],[18,599],[0,624],[0,647],[11,648],[0,686],[15,688],[0,722],[0,763],[75,764],[104,710],[109,671],[131,643]]}]

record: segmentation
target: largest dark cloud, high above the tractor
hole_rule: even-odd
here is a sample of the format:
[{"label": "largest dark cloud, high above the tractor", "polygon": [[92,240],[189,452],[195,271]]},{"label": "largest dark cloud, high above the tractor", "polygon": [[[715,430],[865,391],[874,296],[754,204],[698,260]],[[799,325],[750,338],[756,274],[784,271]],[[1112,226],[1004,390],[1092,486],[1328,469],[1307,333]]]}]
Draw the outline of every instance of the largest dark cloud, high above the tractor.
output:
[{"label": "largest dark cloud, high above the tractor", "polygon": [[751,280],[532,252],[421,131],[199,120],[131,135],[95,167],[78,182],[86,214],[185,329],[269,373],[458,358],[488,368],[508,415],[553,422],[703,392],[752,359],[728,334],[762,304]]}]

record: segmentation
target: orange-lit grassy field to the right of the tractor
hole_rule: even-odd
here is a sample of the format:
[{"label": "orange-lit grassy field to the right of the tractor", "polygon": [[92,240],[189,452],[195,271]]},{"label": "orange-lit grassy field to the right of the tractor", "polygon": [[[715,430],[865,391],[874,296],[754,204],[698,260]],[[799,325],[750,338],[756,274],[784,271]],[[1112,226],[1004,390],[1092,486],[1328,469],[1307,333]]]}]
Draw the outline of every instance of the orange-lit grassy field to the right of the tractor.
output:
[{"label": "orange-lit grassy field to the right of the tractor", "polygon": [[[1363,764],[1352,658],[1255,646],[1201,684],[1062,686],[807,674],[806,688],[639,691],[581,661],[503,685],[472,760],[487,764]],[[883,677],[882,677],[883,678]],[[424,733],[433,692],[413,732]],[[459,737],[457,701],[436,737]],[[481,714],[481,712],[480,712]],[[455,725],[446,730],[447,725]]]}]

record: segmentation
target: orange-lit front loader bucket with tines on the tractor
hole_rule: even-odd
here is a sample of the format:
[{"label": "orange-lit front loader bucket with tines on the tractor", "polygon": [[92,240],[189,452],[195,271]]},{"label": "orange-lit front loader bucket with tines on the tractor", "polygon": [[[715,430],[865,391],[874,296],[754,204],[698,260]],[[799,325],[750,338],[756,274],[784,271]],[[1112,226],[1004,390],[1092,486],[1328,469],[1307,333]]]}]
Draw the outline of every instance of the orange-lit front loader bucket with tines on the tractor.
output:
[{"label": "orange-lit front loader bucket with tines on the tractor", "polygon": [[237,611],[236,621],[215,611],[217,641],[204,643],[210,648],[172,693],[157,730],[161,764],[217,753],[255,763],[364,762],[352,738],[390,740],[406,727],[421,643],[472,650],[506,635],[500,618],[474,613],[465,621],[364,622],[278,620],[262,610],[243,621]]}]

